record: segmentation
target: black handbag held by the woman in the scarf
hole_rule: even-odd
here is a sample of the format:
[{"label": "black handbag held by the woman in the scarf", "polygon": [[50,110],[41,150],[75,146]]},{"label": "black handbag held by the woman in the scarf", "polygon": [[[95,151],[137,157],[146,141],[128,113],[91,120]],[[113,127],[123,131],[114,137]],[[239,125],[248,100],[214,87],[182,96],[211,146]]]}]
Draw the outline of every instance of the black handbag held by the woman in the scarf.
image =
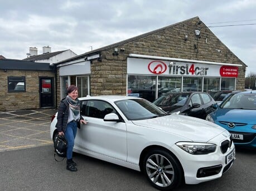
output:
[{"label": "black handbag held by the woman in the scarf", "polygon": [[[56,157],[55,157],[56,152],[58,155],[62,156],[64,159],[66,156],[66,152],[67,152],[67,141],[63,135],[59,135],[59,134],[56,135],[56,137],[54,139],[54,148],[55,148],[55,152],[54,152],[55,160],[56,160]],[[56,161],[58,161],[58,160],[56,160]]]}]

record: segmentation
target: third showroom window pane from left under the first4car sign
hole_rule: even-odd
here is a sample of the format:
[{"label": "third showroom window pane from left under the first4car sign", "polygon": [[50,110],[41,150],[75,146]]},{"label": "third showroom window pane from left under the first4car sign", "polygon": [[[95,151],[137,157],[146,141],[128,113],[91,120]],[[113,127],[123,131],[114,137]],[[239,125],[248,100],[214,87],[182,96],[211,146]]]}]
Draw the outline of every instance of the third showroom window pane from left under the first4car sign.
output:
[{"label": "third showroom window pane from left under the first4car sign", "polygon": [[182,92],[201,92],[202,91],[202,78],[184,77]]}]

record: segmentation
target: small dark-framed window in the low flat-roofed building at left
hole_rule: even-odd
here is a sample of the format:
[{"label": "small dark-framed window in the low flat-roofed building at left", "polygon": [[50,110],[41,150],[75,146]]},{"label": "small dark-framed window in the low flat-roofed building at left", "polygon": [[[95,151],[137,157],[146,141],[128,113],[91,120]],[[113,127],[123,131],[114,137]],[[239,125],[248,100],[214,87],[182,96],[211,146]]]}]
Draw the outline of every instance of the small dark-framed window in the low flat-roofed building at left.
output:
[{"label": "small dark-framed window in the low flat-roofed building at left", "polygon": [[8,77],[8,92],[26,92],[26,78]]}]

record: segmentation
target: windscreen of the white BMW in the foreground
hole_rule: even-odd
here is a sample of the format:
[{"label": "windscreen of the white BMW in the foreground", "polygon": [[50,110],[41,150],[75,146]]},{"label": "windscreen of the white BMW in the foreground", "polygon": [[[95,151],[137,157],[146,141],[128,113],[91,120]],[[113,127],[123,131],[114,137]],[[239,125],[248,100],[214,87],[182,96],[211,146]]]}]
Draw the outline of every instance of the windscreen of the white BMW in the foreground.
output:
[{"label": "windscreen of the white BMW in the foreground", "polygon": [[128,120],[150,119],[168,115],[146,99],[125,99],[115,102]]}]

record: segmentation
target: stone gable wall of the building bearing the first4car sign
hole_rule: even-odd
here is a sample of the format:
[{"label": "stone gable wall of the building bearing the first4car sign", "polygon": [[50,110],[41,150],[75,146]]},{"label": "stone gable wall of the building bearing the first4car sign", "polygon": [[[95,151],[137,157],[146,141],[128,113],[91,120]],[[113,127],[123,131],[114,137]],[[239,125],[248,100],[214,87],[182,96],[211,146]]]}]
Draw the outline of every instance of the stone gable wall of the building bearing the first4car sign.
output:
[{"label": "stone gable wall of the building bearing the first4car sign", "polygon": [[[127,57],[130,53],[150,56],[192,59],[198,61],[242,64],[236,80],[236,89],[244,89],[245,64],[233,54],[199,18],[165,28],[150,36],[143,36],[117,46],[124,52],[113,56],[114,48],[101,52],[102,61],[91,62],[91,96],[126,94]],[[195,35],[200,29],[200,36]],[[185,41],[185,35],[187,40]]]}]

